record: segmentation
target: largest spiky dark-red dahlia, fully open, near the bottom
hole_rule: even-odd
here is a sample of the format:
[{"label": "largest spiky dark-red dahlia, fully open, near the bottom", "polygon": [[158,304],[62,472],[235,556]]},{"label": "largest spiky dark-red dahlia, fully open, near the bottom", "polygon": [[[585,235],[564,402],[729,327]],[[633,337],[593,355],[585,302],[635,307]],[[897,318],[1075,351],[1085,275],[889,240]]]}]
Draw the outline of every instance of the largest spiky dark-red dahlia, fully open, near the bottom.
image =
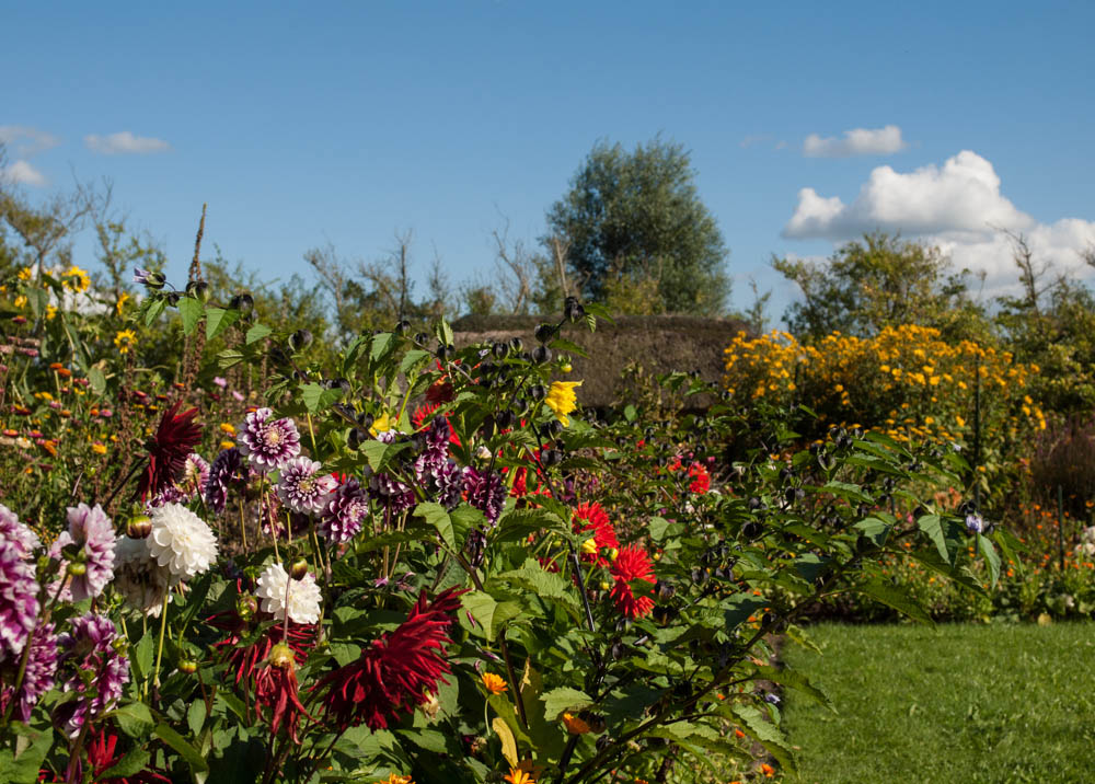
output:
[{"label": "largest spiky dark-red dahlia, fully open, near the bottom", "polygon": [[394,632],[316,683],[326,715],[342,729],[357,724],[384,729],[401,712],[428,701],[427,694],[437,691],[438,682],[447,683],[445,676],[452,671],[445,646],[452,642],[448,631],[462,592],[449,588],[427,602],[423,591]]}]

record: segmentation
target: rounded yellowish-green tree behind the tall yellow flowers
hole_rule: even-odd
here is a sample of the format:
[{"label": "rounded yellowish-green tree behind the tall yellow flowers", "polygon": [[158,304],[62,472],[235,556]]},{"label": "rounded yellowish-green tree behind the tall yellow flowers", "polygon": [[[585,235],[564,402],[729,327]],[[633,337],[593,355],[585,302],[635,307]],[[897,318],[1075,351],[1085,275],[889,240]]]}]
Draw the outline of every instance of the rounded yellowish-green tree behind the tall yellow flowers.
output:
[{"label": "rounded yellowish-green tree behind the tall yellow flowers", "polygon": [[989,328],[969,297],[969,270],[955,274],[938,247],[899,234],[864,234],[820,263],[773,256],[772,266],[802,290],[803,301],[784,314],[800,338],[834,331],[867,336],[900,324],[934,326],[956,338],[984,337]]}]

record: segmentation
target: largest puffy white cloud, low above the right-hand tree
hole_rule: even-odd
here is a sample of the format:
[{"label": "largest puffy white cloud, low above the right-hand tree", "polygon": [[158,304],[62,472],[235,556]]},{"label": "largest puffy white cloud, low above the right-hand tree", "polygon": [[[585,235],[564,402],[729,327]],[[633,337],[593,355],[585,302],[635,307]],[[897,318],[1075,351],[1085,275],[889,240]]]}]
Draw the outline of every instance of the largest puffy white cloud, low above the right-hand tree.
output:
[{"label": "largest puffy white cloud, low above the right-hand tree", "polygon": [[1079,253],[1095,246],[1095,221],[1036,221],[1001,194],[992,163],[968,150],[942,166],[930,164],[908,173],[878,166],[849,205],[839,196],[803,188],[783,235],[839,243],[875,230],[938,245],[956,268],[984,272],[991,292],[1016,277],[1012,242],[1004,230],[1022,233],[1036,260],[1062,273],[1090,275]]}]

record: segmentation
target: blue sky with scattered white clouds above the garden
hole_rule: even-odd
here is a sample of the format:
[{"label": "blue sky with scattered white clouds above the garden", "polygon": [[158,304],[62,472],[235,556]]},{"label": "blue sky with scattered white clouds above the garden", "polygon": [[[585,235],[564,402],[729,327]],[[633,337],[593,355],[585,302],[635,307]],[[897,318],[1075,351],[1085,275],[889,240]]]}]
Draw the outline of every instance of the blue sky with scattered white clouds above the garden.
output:
[{"label": "blue sky with scattered white clouds above the garden", "polygon": [[266,277],[412,229],[422,275],[436,247],[487,278],[504,216],[534,242],[597,140],[657,134],[691,150],[733,304],[753,276],[774,316],[771,254],[871,228],[990,290],[1012,277],[990,224],[1062,267],[1095,242],[1090,2],[4,5],[9,180],[108,177],[174,279],[204,201],[205,255]]}]

